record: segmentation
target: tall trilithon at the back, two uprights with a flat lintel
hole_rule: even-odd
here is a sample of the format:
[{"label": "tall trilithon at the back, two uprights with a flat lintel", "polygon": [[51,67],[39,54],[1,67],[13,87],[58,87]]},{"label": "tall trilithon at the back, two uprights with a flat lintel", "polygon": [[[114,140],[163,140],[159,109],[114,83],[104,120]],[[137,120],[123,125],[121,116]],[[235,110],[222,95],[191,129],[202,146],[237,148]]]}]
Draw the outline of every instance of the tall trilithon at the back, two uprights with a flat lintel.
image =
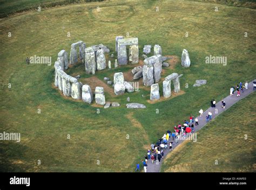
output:
[{"label": "tall trilithon at the back, two uprights with a flat lintel", "polygon": [[130,48],[129,48],[129,61],[132,64],[139,63],[138,38],[126,38],[126,39],[117,39],[117,59],[118,59],[118,64],[119,65],[127,65],[126,45],[130,45]]}]

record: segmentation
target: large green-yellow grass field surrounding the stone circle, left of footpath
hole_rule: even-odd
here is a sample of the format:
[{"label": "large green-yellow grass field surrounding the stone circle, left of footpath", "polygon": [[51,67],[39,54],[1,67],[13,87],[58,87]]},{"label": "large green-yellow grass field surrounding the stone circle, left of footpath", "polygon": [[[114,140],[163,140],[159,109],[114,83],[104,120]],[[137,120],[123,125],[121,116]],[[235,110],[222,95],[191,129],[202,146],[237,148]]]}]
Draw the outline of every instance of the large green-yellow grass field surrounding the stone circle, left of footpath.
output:
[{"label": "large green-yellow grass field surrounding the stone circle, left of footpath", "polygon": [[[100,12],[96,11],[98,6]],[[196,115],[200,108],[207,108],[212,98],[219,101],[227,96],[231,85],[255,79],[256,10],[218,6],[215,12],[211,3],[111,1],[2,18],[0,132],[21,133],[22,139],[20,143],[0,141],[0,171],[133,172],[136,162],[143,159],[145,150],[159,135],[190,114]],[[71,37],[67,37],[68,32]],[[70,52],[71,43],[83,40],[87,46],[103,43],[111,54],[115,37],[126,36],[127,32],[139,39],[140,59],[146,44],[159,44],[163,55],[179,58],[183,49],[188,50],[190,68],[181,67],[179,62],[162,74],[183,74],[180,83],[184,94],[149,104],[147,88],[118,97],[105,92],[107,101],[117,101],[121,106],[103,109],[64,98],[53,87],[53,64],[60,50]],[[52,65],[26,65],[25,58],[34,55],[52,56]],[[210,55],[227,56],[227,65],[205,64],[205,57]],[[114,72],[130,69],[104,70],[96,77],[103,80]],[[81,81],[91,77],[79,64],[66,72],[80,73]],[[208,83],[192,87],[196,79]],[[127,97],[147,108],[127,110]]]}]

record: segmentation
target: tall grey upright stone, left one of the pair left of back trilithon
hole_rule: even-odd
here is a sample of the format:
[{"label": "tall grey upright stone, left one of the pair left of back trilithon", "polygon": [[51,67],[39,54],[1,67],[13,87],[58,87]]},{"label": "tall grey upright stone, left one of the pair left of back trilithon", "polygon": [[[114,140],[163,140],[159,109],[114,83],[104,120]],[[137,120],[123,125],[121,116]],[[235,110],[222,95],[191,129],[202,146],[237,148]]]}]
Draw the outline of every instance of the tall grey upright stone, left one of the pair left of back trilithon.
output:
[{"label": "tall grey upright stone, left one of the pair left of back trilithon", "polygon": [[85,72],[89,74],[92,69],[96,71],[95,51],[89,47],[85,49]]}]

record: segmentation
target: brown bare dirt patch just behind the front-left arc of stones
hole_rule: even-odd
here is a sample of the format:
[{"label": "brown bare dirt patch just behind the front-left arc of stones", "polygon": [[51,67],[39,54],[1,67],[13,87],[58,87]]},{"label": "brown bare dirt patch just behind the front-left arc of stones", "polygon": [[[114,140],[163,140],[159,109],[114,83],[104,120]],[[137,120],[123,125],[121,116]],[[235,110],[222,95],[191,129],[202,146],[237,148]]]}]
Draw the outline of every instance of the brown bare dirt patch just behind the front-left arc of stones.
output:
[{"label": "brown bare dirt patch just behind the front-left arc of stones", "polygon": [[106,84],[102,80],[98,79],[96,76],[90,77],[90,78],[82,78],[80,79],[83,84],[87,84],[91,87],[92,92],[95,91],[96,86],[102,86],[104,87],[104,92],[107,92],[110,94],[111,97],[116,97],[114,95],[114,90],[112,86]]}]

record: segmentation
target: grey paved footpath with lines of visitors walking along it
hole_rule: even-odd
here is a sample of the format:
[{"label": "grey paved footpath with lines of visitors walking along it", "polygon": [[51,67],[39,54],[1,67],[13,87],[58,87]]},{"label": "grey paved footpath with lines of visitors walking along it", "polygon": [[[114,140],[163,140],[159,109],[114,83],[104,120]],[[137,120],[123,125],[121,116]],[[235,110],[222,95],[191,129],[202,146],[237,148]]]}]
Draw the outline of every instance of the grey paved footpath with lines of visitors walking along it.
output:
[{"label": "grey paved footpath with lines of visitors walking along it", "polygon": [[[253,80],[254,81],[254,80]],[[227,89],[228,93],[230,93],[230,87]],[[203,113],[203,116],[200,117],[198,116],[198,123],[199,125],[198,126],[194,126],[194,132],[197,132],[198,130],[200,130],[201,128],[203,128],[207,122],[206,122],[206,115],[208,114],[208,111],[211,111],[212,112],[212,119],[214,119],[215,117],[219,116],[222,112],[224,112],[225,110],[227,110],[228,108],[230,108],[232,105],[234,105],[235,103],[237,103],[239,100],[247,97],[249,94],[251,94],[253,92],[253,82],[251,83],[248,83],[248,89],[247,90],[244,90],[244,92],[240,92],[240,97],[237,97],[237,92],[235,91],[234,92],[234,95],[233,96],[227,96],[226,98],[224,98],[224,101],[226,103],[226,106],[225,106],[225,109],[223,109],[221,106],[221,101],[219,101],[217,104],[216,104],[216,107],[210,107],[208,108],[207,110],[204,111]],[[210,104],[210,99],[209,99],[209,104]],[[215,109],[218,109],[218,113],[215,113]],[[199,111],[199,110],[198,110]],[[198,113],[198,115],[200,115]],[[189,116],[188,116],[189,117]],[[189,121],[189,119],[186,119]],[[211,122],[211,120],[209,121]],[[208,123],[209,123],[208,122]],[[172,129],[169,129],[170,131],[173,131],[173,127],[172,126]],[[167,131],[167,130],[166,130]],[[183,141],[185,140],[179,140],[178,143],[175,142],[175,140],[172,140],[172,137],[169,138],[169,141],[168,141],[168,144],[169,142],[173,142],[172,144],[172,149],[174,149],[175,147],[177,147],[179,144],[181,144]],[[164,150],[164,159],[166,157],[166,155],[171,152],[169,151],[169,145],[168,147],[166,148],[166,150]],[[152,161],[151,159],[147,160],[147,172],[160,172],[160,167],[161,167],[161,164],[162,162],[164,161],[164,159],[161,159],[161,161],[159,162],[159,164],[156,164],[156,162],[154,162],[154,164],[152,164]]]}]

